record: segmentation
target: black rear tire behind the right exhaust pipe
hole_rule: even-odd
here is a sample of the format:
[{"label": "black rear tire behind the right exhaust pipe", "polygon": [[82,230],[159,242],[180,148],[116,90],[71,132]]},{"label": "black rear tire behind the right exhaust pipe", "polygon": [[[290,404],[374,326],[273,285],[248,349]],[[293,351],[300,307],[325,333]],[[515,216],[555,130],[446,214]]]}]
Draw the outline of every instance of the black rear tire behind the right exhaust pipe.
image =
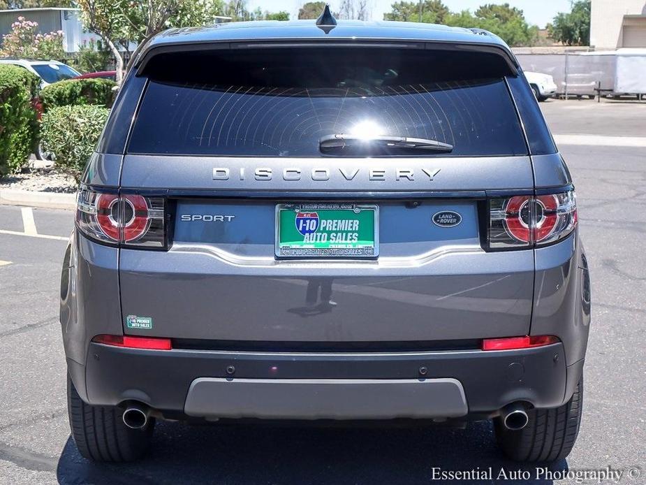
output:
[{"label": "black rear tire behind the right exhaust pipe", "polygon": [[551,410],[530,410],[529,423],[522,430],[508,430],[494,419],[496,440],[504,454],[514,461],[557,461],[566,458],[576,442],[581,424],[583,378],[564,405]]}]

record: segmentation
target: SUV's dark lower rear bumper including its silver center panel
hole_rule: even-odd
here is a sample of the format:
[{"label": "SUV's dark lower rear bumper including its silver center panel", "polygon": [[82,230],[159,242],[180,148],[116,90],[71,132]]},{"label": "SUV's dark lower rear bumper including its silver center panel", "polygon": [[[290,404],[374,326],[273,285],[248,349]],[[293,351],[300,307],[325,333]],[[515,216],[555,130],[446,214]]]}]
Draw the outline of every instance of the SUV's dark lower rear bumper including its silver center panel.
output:
[{"label": "SUV's dark lower rear bumper including its silver center panel", "polygon": [[[164,414],[267,419],[448,418],[567,400],[562,344],[501,352],[272,353],[91,343],[87,400]],[[578,379],[578,377],[576,377]]]}]

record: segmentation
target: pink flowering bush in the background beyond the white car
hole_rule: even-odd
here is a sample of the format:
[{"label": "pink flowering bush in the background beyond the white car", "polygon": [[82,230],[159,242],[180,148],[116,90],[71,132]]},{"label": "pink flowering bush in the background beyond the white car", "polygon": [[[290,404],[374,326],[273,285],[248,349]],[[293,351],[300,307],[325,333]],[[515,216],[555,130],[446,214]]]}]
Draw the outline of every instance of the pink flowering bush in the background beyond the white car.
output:
[{"label": "pink flowering bush in the background beyond the white car", "polygon": [[20,57],[22,59],[62,59],[63,31],[41,34],[38,23],[18,17],[11,24],[11,32],[3,36],[0,56]]}]

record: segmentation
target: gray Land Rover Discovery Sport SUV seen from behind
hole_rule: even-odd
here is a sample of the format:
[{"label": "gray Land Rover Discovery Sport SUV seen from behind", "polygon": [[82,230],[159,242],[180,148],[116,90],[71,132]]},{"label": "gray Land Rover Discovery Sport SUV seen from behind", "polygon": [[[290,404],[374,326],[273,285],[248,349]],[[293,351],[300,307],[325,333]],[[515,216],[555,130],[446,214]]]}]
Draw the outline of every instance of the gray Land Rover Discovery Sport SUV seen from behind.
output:
[{"label": "gray Land Rover Discovery Sport SUV seen from behind", "polygon": [[589,275],[572,180],[487,31],[174,29],[126,76],[61,282],[82,456],[156,420],[493,420],[564,458]]}]

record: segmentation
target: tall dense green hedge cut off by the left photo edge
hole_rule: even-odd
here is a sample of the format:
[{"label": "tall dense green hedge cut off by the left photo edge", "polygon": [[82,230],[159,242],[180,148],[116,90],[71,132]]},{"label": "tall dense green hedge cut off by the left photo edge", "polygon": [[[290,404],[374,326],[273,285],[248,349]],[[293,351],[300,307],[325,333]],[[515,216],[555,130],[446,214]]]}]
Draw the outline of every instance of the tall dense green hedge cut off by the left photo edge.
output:
[{"label": "tall dense green hedge cut off by the left photo edge", "polygon": [[38,135],[36,110],[40,79],[18,66],[0,65],[0,178],[19,171]]}]

